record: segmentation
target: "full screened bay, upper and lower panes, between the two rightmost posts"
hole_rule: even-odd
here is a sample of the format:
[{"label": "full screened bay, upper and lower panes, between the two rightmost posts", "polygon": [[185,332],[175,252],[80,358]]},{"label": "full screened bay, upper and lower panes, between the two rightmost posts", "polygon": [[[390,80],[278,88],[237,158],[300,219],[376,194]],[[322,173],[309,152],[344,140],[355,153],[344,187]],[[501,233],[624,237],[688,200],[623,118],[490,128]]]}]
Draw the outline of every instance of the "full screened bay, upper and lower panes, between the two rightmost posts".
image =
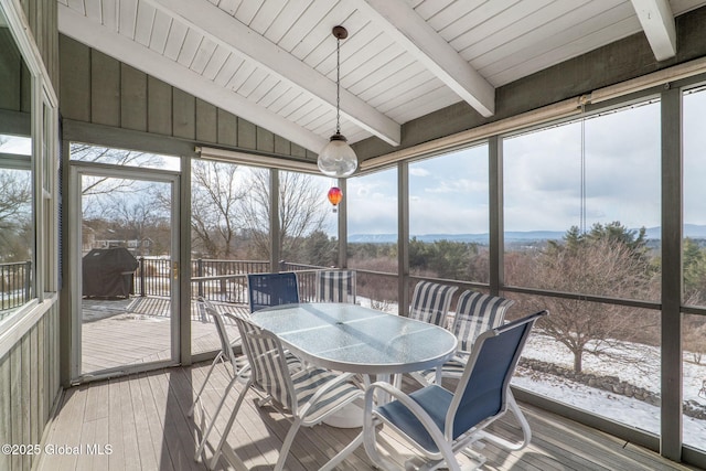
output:
[{"label": "full screened bay, upper and lower panes, between the two rightmost posts", "polygon": [[558,291],[538,309],[513,383],[554,400],[660,432],[660,312],[560,293],[660,299],[660,104],[646,103],[503,141],[504,274]]}]

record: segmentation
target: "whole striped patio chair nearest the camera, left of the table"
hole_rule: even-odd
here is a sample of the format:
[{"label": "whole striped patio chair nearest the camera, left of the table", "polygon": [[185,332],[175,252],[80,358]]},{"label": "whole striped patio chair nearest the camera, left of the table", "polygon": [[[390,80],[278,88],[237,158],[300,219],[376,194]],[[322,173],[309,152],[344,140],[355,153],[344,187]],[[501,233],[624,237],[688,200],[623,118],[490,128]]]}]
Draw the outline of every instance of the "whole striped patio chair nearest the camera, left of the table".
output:
[{"label": "whole striped patio chair nearest the camera, left of the table", "polygon": [[[210,469],[217,464],[221,453],[226,459],[239,461],[226,439],[237,411],[248,390],[271,397],[272,406],[292,416],[292,424],[279,451],[275,471],[280,471],[300,427],[313,427],[352,402],[363,397],[363,390],[352,381],[354,374],[340,374],[308,366],[291,372],[286,353],[274,333],[260,329],[244,317],[233,317],[240,330],[243,347],[250,364],[252,374],[247,386],[240,392],[231,418],[223,430],[221,441],[214,450]],[[233,463],[233,465],[237,465]]]}]

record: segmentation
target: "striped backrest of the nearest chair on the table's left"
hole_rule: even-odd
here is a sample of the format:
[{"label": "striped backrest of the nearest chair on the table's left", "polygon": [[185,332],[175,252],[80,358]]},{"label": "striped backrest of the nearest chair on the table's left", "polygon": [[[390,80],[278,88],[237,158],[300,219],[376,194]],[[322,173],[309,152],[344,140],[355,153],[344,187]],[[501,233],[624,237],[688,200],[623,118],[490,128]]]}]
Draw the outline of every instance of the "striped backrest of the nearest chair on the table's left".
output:
[{"label": "striped backrest of the nearest chair on the table's left", "polygon": [[240,314],[231,315],[238,325],[243,350],[250,365],[253,385],[281,406],[297,413],[291,373],[281,342],[274,333]]}]

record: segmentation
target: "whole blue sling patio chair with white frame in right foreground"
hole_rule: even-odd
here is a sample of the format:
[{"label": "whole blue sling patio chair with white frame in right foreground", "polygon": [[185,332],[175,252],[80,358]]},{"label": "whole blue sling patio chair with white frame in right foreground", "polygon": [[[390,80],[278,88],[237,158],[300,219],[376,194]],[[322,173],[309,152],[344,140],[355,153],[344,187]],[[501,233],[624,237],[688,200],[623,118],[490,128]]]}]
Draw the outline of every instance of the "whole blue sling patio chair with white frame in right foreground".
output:
[{"label": "whole blue sling patio chair with white frame in right foreground", "polygon": [[[406,463],[408,469],[435,470],[443,465],[459,471],[456,456],[461,452],[472,457],[478,468],[485,460],[468,447],[479,440],[511,451],[526,447],[532,432],[512,395],[510,379],[532,327],[545,314],[547,311],[539,311],[482,333],[452,392],[431,384],[407,395],[388,383],[373,383],[365,392],[363,420],[363,442],[371,460],[381,469],[395,468],[377,451],[379,422],[397,431],[418,452]],[[394,400],[375,406],[376,389],[388,393]],[[522,441],[513,442],[485,430],[509,408],[520,420]]]}]

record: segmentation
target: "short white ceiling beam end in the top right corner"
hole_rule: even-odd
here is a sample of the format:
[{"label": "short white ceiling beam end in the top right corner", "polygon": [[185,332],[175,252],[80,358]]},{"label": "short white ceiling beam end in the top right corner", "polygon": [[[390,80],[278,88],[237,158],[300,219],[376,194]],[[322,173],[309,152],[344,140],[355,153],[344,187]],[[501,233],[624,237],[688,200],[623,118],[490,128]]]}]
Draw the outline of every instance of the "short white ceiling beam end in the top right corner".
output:
[{"label": "short white ceiling beam end in the top right corner", "polygon": [[631,0],[657,61],[676,55],[676,25],[668,0]]}]

